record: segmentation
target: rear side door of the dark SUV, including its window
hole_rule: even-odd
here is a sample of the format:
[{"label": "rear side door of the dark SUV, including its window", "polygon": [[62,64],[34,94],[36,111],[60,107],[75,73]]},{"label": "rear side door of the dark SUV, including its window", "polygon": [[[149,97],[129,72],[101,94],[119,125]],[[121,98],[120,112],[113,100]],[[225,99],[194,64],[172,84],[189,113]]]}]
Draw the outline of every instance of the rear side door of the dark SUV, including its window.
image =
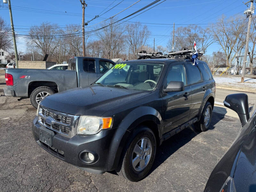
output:
[{"label": "rear side door of the dark SUV, including its window", "polygon": [[207,83],[204,82],[201,72],[192,62],[185,64],[188,84],[191,87],[191,109],[189,119],[197,116],[207,90]]}]

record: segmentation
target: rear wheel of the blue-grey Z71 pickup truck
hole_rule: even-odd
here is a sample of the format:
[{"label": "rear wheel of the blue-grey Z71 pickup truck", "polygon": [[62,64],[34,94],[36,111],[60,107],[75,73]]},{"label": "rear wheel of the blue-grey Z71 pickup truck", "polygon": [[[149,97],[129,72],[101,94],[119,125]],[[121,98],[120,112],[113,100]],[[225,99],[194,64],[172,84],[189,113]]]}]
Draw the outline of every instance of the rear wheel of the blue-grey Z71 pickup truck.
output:
[{"label": "rear wheel of the blue-grey Z71 pickup truck", "polygon": [[42,86],[37,87],[30,95],[30,102],[34,108],[37,108],[39,102],[47,97],[48,95],[52,95],[54,91],[50,87]]}]

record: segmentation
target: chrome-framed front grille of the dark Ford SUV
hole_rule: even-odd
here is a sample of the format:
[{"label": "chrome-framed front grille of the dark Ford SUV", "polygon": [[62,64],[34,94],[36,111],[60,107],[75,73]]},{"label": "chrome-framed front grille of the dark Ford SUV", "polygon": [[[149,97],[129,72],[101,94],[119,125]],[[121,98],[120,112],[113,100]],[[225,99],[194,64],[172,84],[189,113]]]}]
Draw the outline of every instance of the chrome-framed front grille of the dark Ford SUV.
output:
[{"label": "chrome-framed front grille of the dark Ford SUV", "polygon": [[[48,116],[54,119],[53,124],[48,124],[45,121],[46,117]],[[69,135],[71,137],[69,133],[71,132],[72,127],[76,126],[77,119],[78,119],[78,116],[60,113],[58,111],[53,111],[51,109],[47,109],[42,106],[40,106],[39,112],[38,112],[39,124],[55,132],[61,133],[63,134],[63,136]]]}]

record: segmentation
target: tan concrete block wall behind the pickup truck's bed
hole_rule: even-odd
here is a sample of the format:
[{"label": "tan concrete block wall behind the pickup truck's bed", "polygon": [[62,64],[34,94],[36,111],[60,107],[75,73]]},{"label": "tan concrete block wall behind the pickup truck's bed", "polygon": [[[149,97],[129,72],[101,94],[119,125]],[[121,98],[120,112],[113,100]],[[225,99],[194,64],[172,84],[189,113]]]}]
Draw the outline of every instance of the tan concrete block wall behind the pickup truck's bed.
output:
[{"label": "tan concrete block wall behind the pickup truck's bed", "polygon": [[49,61],[18,61],[20,69],[46,69],[55,65],[56,62]]}]

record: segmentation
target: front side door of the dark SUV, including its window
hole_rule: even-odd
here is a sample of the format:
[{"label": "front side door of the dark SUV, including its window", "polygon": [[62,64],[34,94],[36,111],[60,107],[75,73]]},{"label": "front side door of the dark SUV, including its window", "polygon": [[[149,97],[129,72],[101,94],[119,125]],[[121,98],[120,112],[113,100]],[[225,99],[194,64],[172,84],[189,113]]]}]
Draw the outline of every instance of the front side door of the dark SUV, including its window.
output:
[{"label": "front side door of the dark SUV, including its window", "polygon": [[191,88],[187,83],[183,62],[176,62],[170,65],[163,82],[163,89],[166,88],[170,81],[182,81],[185,89],[181,92],[164,93],[164,132],[169,132],[187,122],[190,114]]}]

